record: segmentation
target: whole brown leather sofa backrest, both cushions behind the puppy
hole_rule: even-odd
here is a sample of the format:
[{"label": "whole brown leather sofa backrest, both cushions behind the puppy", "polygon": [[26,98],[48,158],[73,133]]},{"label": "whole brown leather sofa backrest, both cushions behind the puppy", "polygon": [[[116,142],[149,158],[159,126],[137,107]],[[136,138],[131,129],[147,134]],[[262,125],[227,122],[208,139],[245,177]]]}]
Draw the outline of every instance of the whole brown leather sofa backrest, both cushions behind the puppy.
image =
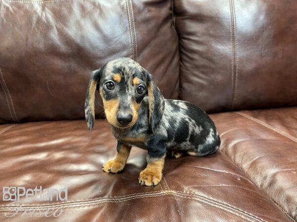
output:
[{"label": "whole brown leather sofa backrest, both cushions behind the puppy", "polygon": [[1,0],[0,123],[84,118],[91,71],[118,57],[208,112],[297,105],[296,11],[294,0]]}]

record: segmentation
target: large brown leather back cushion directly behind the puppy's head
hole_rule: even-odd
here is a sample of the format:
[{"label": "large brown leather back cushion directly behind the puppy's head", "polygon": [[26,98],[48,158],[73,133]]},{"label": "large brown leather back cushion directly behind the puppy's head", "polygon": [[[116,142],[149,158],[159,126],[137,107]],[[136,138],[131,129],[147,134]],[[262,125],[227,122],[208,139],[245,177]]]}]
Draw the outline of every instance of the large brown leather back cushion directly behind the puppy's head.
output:
[{"label": "large brown leather back cushion directly behind the puppy's head", "polygon": [[[0,1],[0,123],[84,118],[91,71],[118,57],[137,60],[166,98],[177,98],[171,3]],[[99,103],[97,94],[97,117]]]}]

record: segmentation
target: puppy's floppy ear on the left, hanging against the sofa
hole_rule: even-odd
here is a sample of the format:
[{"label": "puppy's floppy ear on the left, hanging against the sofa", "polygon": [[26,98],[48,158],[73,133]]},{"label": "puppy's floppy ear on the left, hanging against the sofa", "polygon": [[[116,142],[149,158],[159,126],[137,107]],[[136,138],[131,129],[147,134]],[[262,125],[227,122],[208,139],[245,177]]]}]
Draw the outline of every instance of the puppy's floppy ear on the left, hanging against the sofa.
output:
[{"label": "puppy's floppy ear on the left, hanging against the sofa", "polygon": [[101,77],[101,69],[93,71],[91,76],[86,101],[85,101],[85,116],[89,130],[93,129],[95,122],[95,92],[99,90],[99,81]]}]

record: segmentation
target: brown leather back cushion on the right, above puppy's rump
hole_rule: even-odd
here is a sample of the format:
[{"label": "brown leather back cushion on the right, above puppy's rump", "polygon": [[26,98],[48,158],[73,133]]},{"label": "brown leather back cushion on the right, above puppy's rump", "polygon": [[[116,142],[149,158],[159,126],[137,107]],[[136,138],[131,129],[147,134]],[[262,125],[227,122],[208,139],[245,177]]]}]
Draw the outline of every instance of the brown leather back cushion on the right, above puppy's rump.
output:
[{"label": "brown leather back cushion on the right, above puppy's rump", "polygon": [[175,0],[180,99],[208,112],[297,105],[297,1]]}]

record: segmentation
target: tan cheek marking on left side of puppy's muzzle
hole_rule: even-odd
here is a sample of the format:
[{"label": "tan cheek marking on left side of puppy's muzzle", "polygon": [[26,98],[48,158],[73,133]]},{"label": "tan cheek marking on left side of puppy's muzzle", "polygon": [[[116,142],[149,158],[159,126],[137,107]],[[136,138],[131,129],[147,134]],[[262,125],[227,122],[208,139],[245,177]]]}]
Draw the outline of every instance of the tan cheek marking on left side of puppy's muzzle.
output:
[{"label": "tan cheek marking on left side of puppy's muzzle", "polygon": [[105,100],[103,97],[102,90],[100,89],[99,91],[103,101],[103,107],[104,107],[106,119],[111,125],[116,126],[117,125],[116,111],[119,106],[119,101],[117,99]]}]

